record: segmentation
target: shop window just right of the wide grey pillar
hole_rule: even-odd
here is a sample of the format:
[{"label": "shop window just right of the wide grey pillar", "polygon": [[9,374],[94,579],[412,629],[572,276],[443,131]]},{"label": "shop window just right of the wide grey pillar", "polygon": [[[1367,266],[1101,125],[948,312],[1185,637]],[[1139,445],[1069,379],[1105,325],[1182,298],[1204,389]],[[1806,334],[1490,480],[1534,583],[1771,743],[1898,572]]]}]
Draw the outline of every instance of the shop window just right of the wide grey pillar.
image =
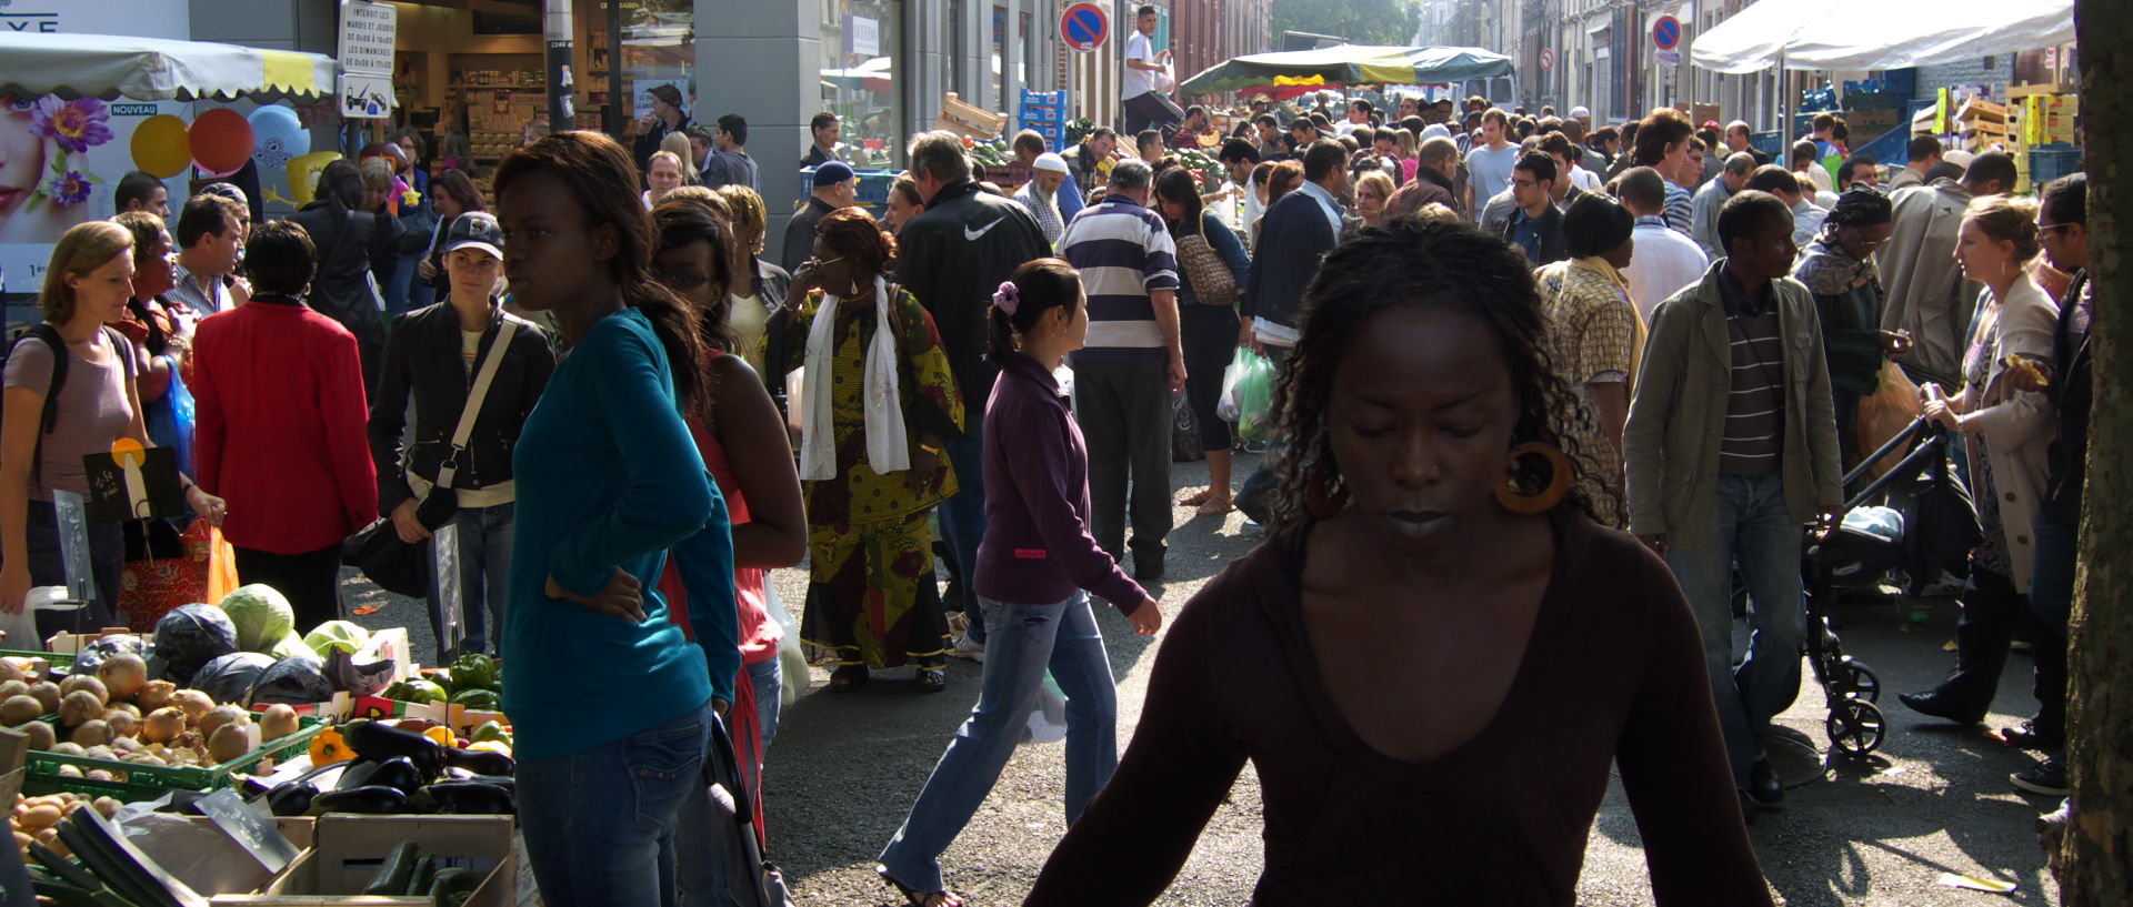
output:
[{"label": "shop window just right of the wide grey pillar", "polygon": [[823,0],[821,109],[843,123],[840,155],[862,170],[902,160],[902,0]]}]

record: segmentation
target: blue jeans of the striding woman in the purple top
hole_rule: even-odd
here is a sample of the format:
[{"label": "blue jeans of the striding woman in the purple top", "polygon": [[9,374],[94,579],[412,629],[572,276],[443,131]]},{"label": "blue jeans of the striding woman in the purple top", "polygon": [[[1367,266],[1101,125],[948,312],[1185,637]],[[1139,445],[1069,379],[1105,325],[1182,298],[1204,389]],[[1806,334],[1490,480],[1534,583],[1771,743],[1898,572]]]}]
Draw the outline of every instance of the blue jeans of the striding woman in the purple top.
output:
[{"label": "blue jeans of the striding woman in the purple top", "polygon": [[1118,690],[1088,594],[1052,605],[983,605],[992,641],[985,643],[977,707],[947,741],[911,818],[881,852],[889,877],[921,892],[947,888],[941,852],[985,803],[1015,754],[1047,666],[1066,692],[1066,824],[1081,818],[1118,769]]}]

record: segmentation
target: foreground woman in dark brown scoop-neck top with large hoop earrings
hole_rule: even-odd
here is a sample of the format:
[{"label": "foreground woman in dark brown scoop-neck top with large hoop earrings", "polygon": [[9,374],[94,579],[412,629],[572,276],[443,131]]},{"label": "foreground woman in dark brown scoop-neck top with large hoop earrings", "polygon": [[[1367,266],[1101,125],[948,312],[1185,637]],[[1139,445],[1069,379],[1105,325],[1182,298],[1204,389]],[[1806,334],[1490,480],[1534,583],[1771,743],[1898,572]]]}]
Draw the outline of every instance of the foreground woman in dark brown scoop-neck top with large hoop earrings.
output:
[{"label": "foreground woman in dark brown scoop-neck top with large hoop earrings", "polygon": [[1563,496],[1589,415],[1523,255],[1344,243],[1282,400],[1276,534],[1186,605],[1026,903],[1154,903],[1252,760],[1261,907],[1570,905],[1610,762],[1662,907],[1768,905],[1681,590]]}]

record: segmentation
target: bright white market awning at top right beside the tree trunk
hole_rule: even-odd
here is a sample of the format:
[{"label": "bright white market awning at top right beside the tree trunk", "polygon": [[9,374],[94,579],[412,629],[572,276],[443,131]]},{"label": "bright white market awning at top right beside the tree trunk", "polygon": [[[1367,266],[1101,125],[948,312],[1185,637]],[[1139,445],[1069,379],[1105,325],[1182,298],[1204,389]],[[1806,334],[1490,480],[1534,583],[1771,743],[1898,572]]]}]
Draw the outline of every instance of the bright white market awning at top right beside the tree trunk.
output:
[{"label": "bright white market awning at top right beside the tree trunk", "polygon": [[1689,62],[1715,72],[1901,70],[2073,43],[2073,0],[1883,0],[1860,28],[1843,0],[1762,0],[1704,32]]}]

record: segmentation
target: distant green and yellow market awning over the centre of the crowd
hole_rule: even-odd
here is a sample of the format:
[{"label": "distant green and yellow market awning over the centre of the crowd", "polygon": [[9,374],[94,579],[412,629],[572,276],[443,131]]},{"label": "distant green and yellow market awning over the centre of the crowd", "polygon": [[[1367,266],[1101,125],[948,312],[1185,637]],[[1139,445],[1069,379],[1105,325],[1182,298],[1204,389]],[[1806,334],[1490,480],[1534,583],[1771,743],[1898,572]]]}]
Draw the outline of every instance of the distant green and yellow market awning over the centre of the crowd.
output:
[{"label": "distant green and yellow market awning over the centre of the crowd", "polygon": [[1510,75],[1510,57],[1480,47],[1340,45],[1231,57],[1186,79],[1180,92],[1197,96],[1256,85],[1433,85],[1499,75]]}]

